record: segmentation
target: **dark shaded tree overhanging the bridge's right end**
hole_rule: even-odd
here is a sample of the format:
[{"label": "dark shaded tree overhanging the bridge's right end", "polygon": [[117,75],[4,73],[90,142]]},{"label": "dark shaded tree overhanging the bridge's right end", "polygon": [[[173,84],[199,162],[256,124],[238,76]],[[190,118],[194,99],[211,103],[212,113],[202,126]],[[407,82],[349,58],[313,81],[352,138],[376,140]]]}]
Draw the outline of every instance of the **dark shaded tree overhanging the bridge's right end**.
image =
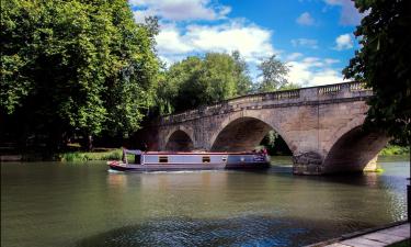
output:
[{"label": "dark shaded tree overhanging the bridge's right end", "polygon": [[356,1],[364,13],[355,31],[361,48],[343,70],[373,88],[366,127],[410,145],[411,4],[409,0]]}]

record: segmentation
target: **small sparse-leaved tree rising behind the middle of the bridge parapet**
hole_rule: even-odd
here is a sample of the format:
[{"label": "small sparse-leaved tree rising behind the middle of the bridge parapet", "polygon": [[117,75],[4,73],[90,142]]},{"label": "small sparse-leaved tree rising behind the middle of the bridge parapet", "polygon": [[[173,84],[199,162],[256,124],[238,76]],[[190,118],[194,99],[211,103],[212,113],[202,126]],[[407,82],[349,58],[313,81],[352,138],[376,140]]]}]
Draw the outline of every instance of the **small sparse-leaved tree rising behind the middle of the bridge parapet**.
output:
[{"label": "small sparse-leaved tree rising behind the middle of the bridge parapet", "polygon": [[256,91],[270,92],[284,88],[288,80],[286,78],[289,67],[278,60],[275,55],[264,59],[260,65],[262,81],[256,85]]}]

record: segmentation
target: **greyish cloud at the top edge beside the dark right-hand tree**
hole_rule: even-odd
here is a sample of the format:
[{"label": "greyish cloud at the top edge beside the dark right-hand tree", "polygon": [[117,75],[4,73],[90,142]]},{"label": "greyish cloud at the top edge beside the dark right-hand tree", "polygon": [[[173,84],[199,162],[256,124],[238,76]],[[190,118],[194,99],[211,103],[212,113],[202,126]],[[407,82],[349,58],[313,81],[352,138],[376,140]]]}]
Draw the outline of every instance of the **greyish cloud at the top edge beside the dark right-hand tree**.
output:
[{"label": "greyish cloud at the top edge beside the dark right-hand tree", "polygon": [[341,7],[340,24],[342,25],[357,25],[361,22],[362,14],[354,5],[352,0],[324,0],[328,5]]}]

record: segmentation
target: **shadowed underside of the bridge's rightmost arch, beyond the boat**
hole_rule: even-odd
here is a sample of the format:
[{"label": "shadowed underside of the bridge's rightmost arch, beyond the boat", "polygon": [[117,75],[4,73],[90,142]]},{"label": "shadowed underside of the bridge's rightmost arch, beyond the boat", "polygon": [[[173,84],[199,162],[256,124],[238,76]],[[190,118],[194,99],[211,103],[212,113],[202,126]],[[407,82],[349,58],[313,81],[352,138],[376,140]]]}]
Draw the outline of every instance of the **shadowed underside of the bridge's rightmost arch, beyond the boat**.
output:
[{"label": "shadowed underside of the bridge's rightmost arch, beyond the boat", "polygon": [[384,133],[356,126],[343,134],[331,147],[323,162],[324,173],[363,171],[388,143]]}]

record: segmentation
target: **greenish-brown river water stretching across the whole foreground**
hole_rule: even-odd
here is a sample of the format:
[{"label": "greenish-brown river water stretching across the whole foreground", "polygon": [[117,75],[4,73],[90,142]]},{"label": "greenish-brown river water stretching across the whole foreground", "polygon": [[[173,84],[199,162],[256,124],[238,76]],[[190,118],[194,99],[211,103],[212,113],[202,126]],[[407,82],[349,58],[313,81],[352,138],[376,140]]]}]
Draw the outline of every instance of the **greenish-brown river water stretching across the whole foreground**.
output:
[{"label": "greenish-brown river water stretching across the whole foreground", "polygon": [[109,172],[104,162],[1,164],[1,246],[304,246],[406,216],[408,157],[381,173]]}]

